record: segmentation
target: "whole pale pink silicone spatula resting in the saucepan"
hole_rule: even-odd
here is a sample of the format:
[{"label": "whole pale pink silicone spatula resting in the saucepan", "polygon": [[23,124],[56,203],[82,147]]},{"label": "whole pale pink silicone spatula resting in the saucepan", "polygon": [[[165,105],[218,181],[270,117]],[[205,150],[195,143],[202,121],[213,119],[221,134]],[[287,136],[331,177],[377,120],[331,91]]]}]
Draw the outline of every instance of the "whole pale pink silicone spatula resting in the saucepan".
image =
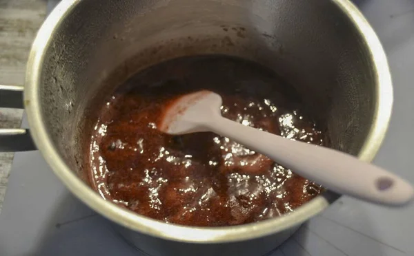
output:
[{"label": "whole pale pink silicone spatula resting in the saucepan", "polygon": [[390,206],[402,206],[413,198],[411,184],[373,164],[346,153],[289,140],[260,131],[221,116],[221,97],[208,91],[195,92],[175,100],[159,123],[167,134],[213,131],[268,156],[337,193]]}]

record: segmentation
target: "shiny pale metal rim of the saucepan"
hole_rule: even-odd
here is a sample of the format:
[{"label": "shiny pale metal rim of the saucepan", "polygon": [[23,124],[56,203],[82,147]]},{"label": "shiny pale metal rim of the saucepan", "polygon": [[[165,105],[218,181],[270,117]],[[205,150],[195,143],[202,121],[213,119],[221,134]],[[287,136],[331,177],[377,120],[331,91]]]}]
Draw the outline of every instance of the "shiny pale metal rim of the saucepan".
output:
[{"label": "shiny pale metal rim of the saucepan", "polygon": [[[63,19],[67,17],[80,1],[81,0],[61,1],[41,26],[34,39],[28,58],[24,89],[24,102],[26,103],[28,121],[34,142],[41,151],[43,158],[45,158],[46,162],[52,167],[55,175],[59,177],[63,184],[65,184],[66,187],[79,198],[79,200],[97,211],[97,213],[107,217],[109,220],[126,228],[130,228],[133,231],[138,231],[139,233],[179,242],[221,243],[255,239],[257,237],[263,237],[298,226],[314,215],[317,215],[317,213],[320,213],[329,204],[340,197],[340,195],[328,191],[327,193],[324,193],[324,195],[319,195],[310,202],[300,206],[293,213],[288,215],[240,226],[209,228],[166,224],[149,217],[137,215],[132,211],[122,209],[111,202],[103,200],[103,198],[90,189],[87,184],[82,182],[77,175],[75,175],[75,172],[70,170],[59,156],[57,149],[53,146],[52,140],[46,130],[46,125],[43,122],[38,90],[43,58],[46,50],[48,50],[52,34],[55,32],[55,29],[59,27]],[[377,102],[370,132],[358,154],[359,159],[369,162],[373,160],[378,149],[380,149],[380,145],[382,144],[386,130],[388,129],[388,122],[391,118],[391,107],[393,105],[391,74],[386,60],[386,54],[380,40],[377,38],[373,28],[371,28],[371,25],[366,21],[362,13],[359,12],[349,0],[331,1],[333,1],[333,3],[348,16],[348,19],[350,19],[355,28],[357,28],[362,39],[368,46],[368,50],[371,52],[376,80],[375,98],[377,98]]]}]

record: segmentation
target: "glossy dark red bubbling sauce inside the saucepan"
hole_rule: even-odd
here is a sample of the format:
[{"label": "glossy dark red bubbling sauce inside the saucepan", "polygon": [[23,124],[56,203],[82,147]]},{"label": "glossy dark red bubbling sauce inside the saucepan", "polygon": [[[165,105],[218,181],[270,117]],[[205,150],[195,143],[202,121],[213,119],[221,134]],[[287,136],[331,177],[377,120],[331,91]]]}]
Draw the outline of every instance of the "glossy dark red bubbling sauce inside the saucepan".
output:
[{"label": "glossy dark red bubbling sauce inside the saucepan", "polygon": [[158,131],[170,100],[199,89],[222,96],[226,118],[324,144],[293,89],[265,67],[226,56],[178,58],[139,72],[97,109],[85,166],[103,198],[165,222],[228,226],[289,213],[321,191],[228,138]]}]

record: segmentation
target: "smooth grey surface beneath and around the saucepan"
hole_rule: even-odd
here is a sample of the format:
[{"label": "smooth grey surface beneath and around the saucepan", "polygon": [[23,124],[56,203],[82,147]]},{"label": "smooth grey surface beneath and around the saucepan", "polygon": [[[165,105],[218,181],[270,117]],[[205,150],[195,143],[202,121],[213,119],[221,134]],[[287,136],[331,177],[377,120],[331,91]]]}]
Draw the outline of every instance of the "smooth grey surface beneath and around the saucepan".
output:
[{"label": "smooth grey surface beneath and around the saucepan", "polygon": [[[375,163],[414,183],[414,1],[355,2],[384,44],[395,89],[391,127]],[[51,173],[39,152],[16,154],[0,215],[0,255],[141,255]],[[271,255],[413,256],[413,216],[414,204],[385,209],[343,197]]]}]

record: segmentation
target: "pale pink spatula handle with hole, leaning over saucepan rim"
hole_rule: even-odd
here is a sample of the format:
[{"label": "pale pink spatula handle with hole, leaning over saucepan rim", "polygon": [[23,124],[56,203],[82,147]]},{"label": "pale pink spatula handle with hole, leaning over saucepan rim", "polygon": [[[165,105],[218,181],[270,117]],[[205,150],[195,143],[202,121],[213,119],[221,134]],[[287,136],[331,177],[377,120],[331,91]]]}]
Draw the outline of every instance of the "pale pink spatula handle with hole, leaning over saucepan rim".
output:
[{"label": "pale pink spatula handle with hole, leaning over saucepan rim", "polygon": [[411,184],[346,153],[289,140],[221,116],[206,127],[337,193],[389,206],[402,206],[413,199]]}]

